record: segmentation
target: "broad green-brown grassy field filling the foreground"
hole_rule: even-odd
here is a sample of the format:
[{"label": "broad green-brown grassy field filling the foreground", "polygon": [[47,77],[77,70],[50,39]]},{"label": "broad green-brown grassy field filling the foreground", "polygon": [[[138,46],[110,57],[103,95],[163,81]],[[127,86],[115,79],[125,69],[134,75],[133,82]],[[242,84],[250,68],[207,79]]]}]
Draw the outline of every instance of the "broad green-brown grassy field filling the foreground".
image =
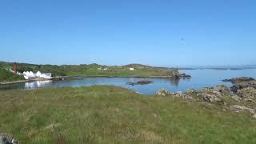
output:
[{"label": "broad green-brown grassy field filling the foreground", "polygon": [[0,92],[0,133],[22,143],[255,143],[250,114],[114,86]]}]

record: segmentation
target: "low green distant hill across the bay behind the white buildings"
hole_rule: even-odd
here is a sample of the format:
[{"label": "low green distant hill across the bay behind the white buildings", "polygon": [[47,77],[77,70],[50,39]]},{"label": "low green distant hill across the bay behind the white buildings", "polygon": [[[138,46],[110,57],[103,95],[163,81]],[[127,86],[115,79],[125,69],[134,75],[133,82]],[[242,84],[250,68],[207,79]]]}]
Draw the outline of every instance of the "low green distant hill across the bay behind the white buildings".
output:
[{"label": "low green distant hill across the bay behind the white buildings", "polygon": [[[0,62],[0,67],[12,69],[14,62]],[[134,68],[134,70],[130,70]],[[146,66],[142,64],[129,64],[126,66],[102,66],[97,63],[81,65],[37,65],[17,63],[18,71],[51,72],[53,76],[116,76],[116,77],[174,77],[178,70],[166,67]]]}]

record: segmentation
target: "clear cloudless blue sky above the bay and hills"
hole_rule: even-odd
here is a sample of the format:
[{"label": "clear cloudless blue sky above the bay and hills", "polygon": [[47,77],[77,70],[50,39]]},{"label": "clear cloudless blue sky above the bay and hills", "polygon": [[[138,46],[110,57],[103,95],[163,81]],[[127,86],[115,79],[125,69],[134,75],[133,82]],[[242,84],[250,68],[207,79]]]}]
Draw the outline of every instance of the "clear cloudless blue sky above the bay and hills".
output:
[{"label": "clear cloudless blue sky above the bay and hills", "polygon": [[254,0],[1,0],[0,61],[256,64]]}]

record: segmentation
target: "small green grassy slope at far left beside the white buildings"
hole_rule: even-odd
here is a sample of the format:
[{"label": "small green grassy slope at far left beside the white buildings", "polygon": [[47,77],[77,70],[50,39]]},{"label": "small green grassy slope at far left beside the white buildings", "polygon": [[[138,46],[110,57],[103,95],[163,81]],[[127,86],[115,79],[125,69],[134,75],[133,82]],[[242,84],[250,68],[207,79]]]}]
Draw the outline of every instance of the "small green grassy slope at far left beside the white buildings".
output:
[{"label": "small green grassy slope at far left beside the white buildings", "polygon": [[21,75],[13,74],[10,71],[0,67],[0,82],[10,82],[17,80],[24,80],[24,77]]}]

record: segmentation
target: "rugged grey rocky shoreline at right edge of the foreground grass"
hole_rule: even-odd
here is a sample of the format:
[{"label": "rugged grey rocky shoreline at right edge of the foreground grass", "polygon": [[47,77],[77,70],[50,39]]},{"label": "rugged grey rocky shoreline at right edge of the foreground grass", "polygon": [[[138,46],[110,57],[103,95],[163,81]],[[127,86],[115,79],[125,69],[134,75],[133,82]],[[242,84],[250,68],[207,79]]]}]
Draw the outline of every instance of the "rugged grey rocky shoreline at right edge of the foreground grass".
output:
[{"label": "rugged grey rocky shoreline at right edge of the foreground grass", "polygon": [[256,80],[254,78],[232,78],[223,80],[232,82],[233,86],[206,87],[202,90],[187,90],[171,93],[168,90],[158,90],[156,96],[171,96],[189,101],[206,102],[222,106],[224,110],[235,112],[248,111],[256,118]]}]

